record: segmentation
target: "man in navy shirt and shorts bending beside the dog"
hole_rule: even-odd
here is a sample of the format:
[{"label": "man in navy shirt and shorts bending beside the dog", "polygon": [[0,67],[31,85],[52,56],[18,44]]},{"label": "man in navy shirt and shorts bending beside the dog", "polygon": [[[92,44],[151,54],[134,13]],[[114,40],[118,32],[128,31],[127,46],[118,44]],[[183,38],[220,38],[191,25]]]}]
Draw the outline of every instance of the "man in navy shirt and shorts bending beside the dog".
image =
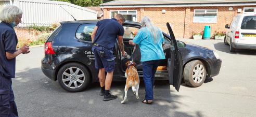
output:
[{"label": "man in navy shirt and shorts bending beside the dog", "polygon": [[[109,90],[114,70],[113,49],[117,38],[122,56],[125,56],[123,44],[124,28],[122,26],[124,22],[125,19],[122,14],[117,14],[115,18],[99,21],[92,33],[94,45],[92,51],[95,57],[95,67],[99,69],[98,77],[101,86],[99,95],[104,95],[104,101],[117,98],[117,96],[110,94]],[[106,80],[105,71],[107,71]]]}]

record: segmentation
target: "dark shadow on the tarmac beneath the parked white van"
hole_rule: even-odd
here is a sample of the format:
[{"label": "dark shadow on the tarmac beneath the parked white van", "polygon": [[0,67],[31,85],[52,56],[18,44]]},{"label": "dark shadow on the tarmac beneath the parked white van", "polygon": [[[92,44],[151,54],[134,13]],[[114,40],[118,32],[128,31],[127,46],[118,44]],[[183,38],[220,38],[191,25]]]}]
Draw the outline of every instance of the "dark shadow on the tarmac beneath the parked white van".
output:
[{"label": "dark shadow on the tarmac beneath the parked white van", "polygon": [[256,50],[237,49],[237,52],[230,52],[229,45],[224,45],[224,42],[215,43],[214,48],[218,51],[226,52],[229,54],[256,55]]}]

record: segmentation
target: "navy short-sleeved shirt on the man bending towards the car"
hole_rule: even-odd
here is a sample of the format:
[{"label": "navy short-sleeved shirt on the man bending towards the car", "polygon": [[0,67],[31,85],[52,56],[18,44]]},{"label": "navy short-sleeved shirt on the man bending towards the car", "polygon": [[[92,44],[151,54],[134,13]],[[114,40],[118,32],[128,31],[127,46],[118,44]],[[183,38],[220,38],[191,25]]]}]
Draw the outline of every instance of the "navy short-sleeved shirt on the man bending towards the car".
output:
[{"label": "navy short-sleeved shirt on the man bending towards the car", "polygon": [[94,43],[105,48],[113,48],[117,41],[117,36],[123,36],[124,28],[118,23],[117,19],[104,19],[99,21]]}]

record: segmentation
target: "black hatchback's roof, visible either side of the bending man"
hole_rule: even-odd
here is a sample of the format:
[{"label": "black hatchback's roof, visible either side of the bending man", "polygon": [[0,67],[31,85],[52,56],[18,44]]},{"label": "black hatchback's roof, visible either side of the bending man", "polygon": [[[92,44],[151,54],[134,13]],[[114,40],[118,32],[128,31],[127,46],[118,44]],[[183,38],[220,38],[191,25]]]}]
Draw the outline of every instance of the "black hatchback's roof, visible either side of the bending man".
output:
[{"label": "black hatchback's roof, visible either side of the bending man", "polygon": [[[60,24],[68,24],[68,23],[97,23],[100,20],[76,20],[76,21],[64,21],[64,22],[60,22]],[[134,21],[125,21],[125,24],[135,24],[135,25],[140,25],[139,22],[134,22]]]}]

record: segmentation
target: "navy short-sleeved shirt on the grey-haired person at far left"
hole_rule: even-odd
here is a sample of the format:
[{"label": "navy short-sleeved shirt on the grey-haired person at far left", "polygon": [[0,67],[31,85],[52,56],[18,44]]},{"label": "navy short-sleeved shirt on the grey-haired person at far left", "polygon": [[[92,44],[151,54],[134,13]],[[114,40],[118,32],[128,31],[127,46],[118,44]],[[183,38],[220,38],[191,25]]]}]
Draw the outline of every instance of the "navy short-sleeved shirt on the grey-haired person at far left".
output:
[{"label": "navy short-sleeved shirt on the grey-haired person at far left", "polygon": [[15,62],[12,58],[7,60],[5,52],[16,52],[18,39],[14,28],[10,24],[0,23],[0,75],[5,78],[15,78]]}]

